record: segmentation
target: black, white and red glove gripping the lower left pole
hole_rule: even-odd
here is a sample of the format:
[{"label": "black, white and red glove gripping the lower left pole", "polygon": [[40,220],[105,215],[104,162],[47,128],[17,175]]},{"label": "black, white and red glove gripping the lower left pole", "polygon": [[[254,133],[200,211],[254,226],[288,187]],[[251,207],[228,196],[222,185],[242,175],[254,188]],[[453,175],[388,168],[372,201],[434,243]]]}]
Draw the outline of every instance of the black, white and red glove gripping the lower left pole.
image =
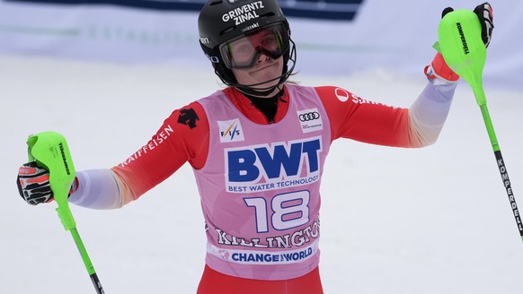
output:
[{"label": "black, white and red glove gripping the lower left pole", "polygon": [[54,199],[49,184],[49,170],[37,167],[35,161],[18,169],[16,185],[23,200],[31,205],[49,203]]}]

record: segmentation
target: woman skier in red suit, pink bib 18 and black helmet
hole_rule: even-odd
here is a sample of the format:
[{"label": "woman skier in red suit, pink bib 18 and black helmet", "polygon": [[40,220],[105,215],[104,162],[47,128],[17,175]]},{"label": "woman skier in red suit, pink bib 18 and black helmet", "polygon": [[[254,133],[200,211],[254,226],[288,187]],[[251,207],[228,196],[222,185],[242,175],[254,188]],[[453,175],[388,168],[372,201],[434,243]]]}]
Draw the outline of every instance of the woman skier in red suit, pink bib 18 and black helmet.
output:
[{"label": "woman skier in red suit, pink bib 18 and black helmet", "polygon": [[[474,12],[487,45],[491,6]],[[200,46],[228,87],[174,110],[128,160],[77,172],[69,202],[120,208],[189,162],[208,239],[199,294],[323,293],[319,191],[332,141],[434,143],[459,77],[436,54],[412,106],[388,107],[339,87],[288,82],[296,48],[276,0],[212,0],[198,24]],[[17,184],[27,203],[53,199],[49,172],[35,162],[22,166]]]}]

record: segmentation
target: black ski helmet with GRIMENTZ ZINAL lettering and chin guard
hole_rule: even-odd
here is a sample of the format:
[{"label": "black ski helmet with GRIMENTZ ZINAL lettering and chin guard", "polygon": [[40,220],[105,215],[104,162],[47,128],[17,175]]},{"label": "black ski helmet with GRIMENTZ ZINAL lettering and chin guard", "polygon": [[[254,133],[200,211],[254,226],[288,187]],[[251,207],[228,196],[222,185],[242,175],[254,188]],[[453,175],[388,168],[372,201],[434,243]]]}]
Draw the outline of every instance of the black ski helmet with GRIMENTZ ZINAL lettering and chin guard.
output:
[{"label": "black ski helmet with GRIMENTZ ZINAL lettering and chin guard", "polygon": [[289,43],[293,42],[290,39],[288,21],[277,0],[209,0],[199,13],[199,45],[222,82],[249,89],[249,85],[237,84],[235,75],[224,63],[219,46],[228,40],[279,22],[287,30],[288,37],[284,40],[288,44],[288,50],[283,54],[283,73],[279,81],[281,84],[288,79],[294,69],[296,48],[292,47],[293,65],[288,70],[288,60],[291,56]]}]

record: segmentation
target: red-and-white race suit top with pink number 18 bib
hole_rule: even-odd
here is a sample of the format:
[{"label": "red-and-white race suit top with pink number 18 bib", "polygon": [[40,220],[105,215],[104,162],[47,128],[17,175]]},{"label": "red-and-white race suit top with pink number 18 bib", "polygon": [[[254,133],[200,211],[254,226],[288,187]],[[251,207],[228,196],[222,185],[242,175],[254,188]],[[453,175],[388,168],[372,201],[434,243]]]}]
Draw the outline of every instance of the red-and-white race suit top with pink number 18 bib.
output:
[{"label": "red-and-white race suit top with pink number 18 bib", "polygon": [[128,160],[78,172],[69,202],[119,208],[189,162],[206,221],[208,267],[246,279],[294,279],[319,263],[320,183],[331,143],[434,143],[455,88],[429,82],[410,108],[394,108],[339,87],[287,83],[269,121],[229,87],[174,110]]}]

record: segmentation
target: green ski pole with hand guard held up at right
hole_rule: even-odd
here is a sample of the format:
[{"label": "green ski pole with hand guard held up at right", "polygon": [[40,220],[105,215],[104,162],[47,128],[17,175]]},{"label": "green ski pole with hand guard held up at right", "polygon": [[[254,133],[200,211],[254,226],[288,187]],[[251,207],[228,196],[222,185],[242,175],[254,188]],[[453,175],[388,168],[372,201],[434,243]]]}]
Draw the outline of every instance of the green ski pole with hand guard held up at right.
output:
[{"label": "green ski pole with hand guard held up at right", "polygon": [[518,225],[519,236],[523,241],[521,216],[510,185],[509,173],[501,156],[500,144],[494,132],[483,90],[483,66],[486,60],[486,48],[481,38],[482,26],[479,18],[474,12],[465,9],[447,13],[439,22],[438,36],[439,44],[435,45],[436,49],[439,50],[447,65],[459,74],[474,91],[500,170],[503,186],[505,186],[509,196],[510,207]]}]

